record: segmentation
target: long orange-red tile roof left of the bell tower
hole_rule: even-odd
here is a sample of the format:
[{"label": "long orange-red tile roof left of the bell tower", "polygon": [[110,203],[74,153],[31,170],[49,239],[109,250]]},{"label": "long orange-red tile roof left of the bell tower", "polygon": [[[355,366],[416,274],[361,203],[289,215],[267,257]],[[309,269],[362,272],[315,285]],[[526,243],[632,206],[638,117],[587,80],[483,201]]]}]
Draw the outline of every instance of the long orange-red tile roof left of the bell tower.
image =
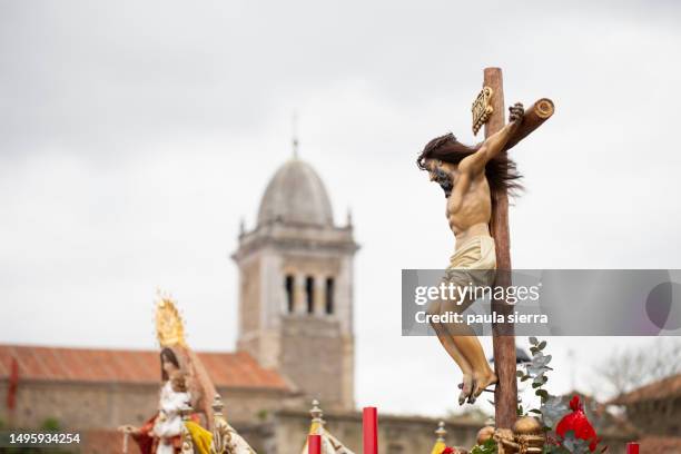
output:
[{"label": "long orange-red tile roof left of the bell tower", "polygon": [[[248,353],[198,353],[198,356],[216,386],[290,389],[277,372],[260,367]],[[10,376],[12,358],[17,358],[19,365],[19,381],[117,383],[160,381],[157,351],[0,345],[0,379]]]}]

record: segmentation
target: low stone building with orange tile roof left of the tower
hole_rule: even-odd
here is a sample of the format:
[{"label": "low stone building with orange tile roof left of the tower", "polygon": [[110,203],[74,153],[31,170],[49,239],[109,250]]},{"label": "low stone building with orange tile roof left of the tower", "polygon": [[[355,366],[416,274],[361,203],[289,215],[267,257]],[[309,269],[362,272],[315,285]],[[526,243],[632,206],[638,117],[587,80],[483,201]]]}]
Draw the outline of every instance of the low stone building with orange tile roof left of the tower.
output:
[{"label": "low stone building with orange tile roof left of the tower", "polygon": [[[248,353],[199,353],[229,416],[254,423],[264,409],[295,398],[292,385]],[[8,408],[11,364],[18,363],[14,408]],[[4,426],[116,428],[141,424],[157,412],[157,351],[116,351],[0,345],[0,420]],[[7,396],[7,397],[6,397]]]}]

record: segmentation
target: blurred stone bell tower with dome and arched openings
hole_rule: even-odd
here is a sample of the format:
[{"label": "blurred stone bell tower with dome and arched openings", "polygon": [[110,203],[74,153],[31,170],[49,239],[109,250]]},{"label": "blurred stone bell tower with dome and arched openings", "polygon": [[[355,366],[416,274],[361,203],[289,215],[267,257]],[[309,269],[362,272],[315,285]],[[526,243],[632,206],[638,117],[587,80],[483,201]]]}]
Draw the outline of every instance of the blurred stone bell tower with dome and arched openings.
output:
[{"label": "blurred stone bell tower with dome and arched openings", "polygon": [[239,235],[237,348],[287,376],[327,407],[354,407],[353,258],[358,245],[334,225],[319,176],[285,162]]}]

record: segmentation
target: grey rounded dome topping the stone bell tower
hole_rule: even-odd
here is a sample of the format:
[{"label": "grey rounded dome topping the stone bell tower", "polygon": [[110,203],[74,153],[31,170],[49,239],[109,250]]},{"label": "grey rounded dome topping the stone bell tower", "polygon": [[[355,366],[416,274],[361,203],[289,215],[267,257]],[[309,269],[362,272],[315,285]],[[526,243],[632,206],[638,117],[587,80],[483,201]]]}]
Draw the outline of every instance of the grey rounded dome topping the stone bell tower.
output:
[{"label": "grey rounded dome topping the stone bell tower", "polygon": [[330,200],[324,182],[305,161],[286,161],[269,180],[258,209],[258,226],[279,220],[284,224],[330,227]]}]

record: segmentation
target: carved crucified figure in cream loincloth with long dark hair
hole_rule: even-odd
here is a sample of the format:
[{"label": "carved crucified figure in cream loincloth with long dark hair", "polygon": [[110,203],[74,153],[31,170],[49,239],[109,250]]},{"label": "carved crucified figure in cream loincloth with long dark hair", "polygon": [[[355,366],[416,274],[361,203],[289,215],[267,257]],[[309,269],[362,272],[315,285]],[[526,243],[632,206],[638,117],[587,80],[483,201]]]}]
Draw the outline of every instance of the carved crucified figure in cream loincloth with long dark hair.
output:
[{"label": "carved crucified figure in cream loincloth with long dark hair", "polygon": [[[427,170],[431,181],[440,184],[446,197],[446,218],[456,246],[450,259],[445,279],[457,286],[473,284],[491,286],[496,270],[494,239],[490,235],[492,216],[491,190],[519,189],[520,175],[505,154],[504,147],[523,120],[524,109],[515,103],[509,125],[484,142],[468,147],[452,135],[431,140],[417,159],[418,168]],[[438,299],[428,306],[430,315],[462,313],[473,300]],[[431,320],[437,317],[430,317]],[[471,327],[464,324],[434,323],[437,338],[461,368],[463,384],[460,405],[475,398],[497,378],[490,368],[484,351]]]}]

